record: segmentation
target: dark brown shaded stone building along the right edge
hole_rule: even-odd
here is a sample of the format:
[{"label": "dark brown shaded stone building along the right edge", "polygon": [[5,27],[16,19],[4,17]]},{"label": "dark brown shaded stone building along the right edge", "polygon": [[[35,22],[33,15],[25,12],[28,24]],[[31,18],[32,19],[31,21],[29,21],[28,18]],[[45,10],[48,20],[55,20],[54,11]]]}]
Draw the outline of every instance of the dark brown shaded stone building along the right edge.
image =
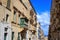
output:
[{"label": "dark brown shaded stone building along the right edge", "polygon": [[48,40],[60,40],[60,0],[52,0]]}]

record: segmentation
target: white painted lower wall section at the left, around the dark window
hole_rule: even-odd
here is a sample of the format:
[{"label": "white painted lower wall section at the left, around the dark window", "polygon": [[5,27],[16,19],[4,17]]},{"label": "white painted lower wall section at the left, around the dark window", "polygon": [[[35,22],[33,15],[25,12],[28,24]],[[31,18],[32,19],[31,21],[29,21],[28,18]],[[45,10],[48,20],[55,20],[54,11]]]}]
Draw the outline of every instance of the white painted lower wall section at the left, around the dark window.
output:
[{"label": "white painted lower wall section at the left, around the dark window", "polygon": [[5,27],[8,28],[7,40],[11,40],[11,24],[5,22],[0,22],[0,40],[4,40]]}]

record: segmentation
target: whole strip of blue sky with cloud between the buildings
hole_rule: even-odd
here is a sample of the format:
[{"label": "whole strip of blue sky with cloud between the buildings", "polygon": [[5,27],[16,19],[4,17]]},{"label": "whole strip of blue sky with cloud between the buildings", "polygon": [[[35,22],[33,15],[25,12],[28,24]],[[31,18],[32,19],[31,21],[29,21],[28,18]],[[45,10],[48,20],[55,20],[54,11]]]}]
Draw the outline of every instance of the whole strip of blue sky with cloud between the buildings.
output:
[{"label": "whole strip of blue sky with cloud between the buildings", "polygon": [[37,13],[37,20],[41,23],[44,35],[48,35],[51,0],[31,0],[31,3]]}]

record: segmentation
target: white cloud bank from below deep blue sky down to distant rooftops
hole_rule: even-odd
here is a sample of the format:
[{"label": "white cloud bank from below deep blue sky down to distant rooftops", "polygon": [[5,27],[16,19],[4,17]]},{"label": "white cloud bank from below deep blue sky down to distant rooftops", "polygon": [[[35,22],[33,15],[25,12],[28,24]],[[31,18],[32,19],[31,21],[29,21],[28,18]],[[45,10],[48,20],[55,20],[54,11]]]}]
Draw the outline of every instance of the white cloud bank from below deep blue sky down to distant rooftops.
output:
[{"label": "white cloud bank from below deep blue sky down to distant rooftops", "polygon": [[41,24],[41,28],[44,31],[44,34],[48,34],[48,28],[50,24],[50,12],[41,12],[40,14],[37,14],[37,20]]}]

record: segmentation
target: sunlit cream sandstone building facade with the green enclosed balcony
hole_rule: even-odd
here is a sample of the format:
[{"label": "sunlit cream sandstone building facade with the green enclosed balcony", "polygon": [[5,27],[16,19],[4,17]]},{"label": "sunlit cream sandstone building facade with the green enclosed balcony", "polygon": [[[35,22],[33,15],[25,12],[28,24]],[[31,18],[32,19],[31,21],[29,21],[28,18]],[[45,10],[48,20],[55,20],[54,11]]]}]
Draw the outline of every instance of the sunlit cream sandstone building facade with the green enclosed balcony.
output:
[{"label": "sunlit cream sandstone building facade with the green enclosed balcony", "polygon": [[[11,40],[36,40],[36,13],[30,0],[0,0],[0,22],[10,24]],[[10,40],[8,33],[2,37],[4,40]]]}]

